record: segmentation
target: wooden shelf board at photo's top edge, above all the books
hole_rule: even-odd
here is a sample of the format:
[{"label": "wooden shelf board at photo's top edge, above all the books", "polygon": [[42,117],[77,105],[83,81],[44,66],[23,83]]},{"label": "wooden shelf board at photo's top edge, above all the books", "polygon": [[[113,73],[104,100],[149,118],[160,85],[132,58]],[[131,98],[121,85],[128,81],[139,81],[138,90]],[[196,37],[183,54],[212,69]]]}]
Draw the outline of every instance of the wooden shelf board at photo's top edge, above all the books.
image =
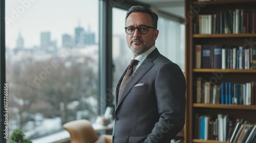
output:
[{"label": "wooden shelf board at photo's top edge, above all the books", "polygon": [[239,1],[239,0],[230,0],[230,1],[227,1],[227,0],[222,0],[222,1],[205,1],[205,2],[197,2],[197,1],[194,1],[193,2],[193,5],[199,5],[199,4],[202,4],[202,3],[205,3],[206,5],[222,5],[222,4],[244,4],[244,3],[253,3],[255,2],[255,0],[244,0],[244,1]]}]

